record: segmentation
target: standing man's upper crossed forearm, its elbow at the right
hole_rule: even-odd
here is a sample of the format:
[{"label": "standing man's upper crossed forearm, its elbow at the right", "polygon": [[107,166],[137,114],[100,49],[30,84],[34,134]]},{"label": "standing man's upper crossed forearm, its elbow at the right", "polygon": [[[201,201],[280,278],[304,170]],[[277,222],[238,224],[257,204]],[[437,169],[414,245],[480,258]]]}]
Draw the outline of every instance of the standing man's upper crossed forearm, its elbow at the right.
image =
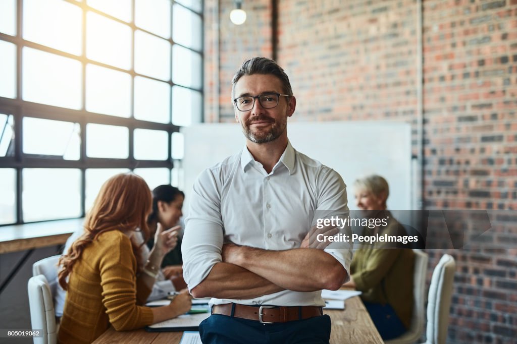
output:
[{"label": "standing man's upper crossed forearm, its elbow at the right", "polygon": [[236,246],[231,263],[239,265],[271,283],[294,291],[339,289],[347,276],[346,270],[330,254],[315,248],[267,251]]}]

